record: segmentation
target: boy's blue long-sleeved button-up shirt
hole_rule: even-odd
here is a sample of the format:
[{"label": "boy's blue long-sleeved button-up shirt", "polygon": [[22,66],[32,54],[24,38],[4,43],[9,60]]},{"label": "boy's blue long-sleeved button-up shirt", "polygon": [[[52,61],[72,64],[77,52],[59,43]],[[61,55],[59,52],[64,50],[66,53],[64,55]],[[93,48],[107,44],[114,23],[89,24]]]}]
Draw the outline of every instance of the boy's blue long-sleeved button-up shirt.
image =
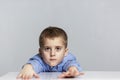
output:
[{"label": "boy's blue long-sleeved button-up shirt", "polygon": [[63,60],[56,66],[49,66],[41,58],[40,54],[36,54],[30,58],[27,64],[31,64],[36,73],[40,72],[65,72],[70,66],[75,66],[79,71],[82,71],[80,64],[77,63],[76,57],[68,53]]}]

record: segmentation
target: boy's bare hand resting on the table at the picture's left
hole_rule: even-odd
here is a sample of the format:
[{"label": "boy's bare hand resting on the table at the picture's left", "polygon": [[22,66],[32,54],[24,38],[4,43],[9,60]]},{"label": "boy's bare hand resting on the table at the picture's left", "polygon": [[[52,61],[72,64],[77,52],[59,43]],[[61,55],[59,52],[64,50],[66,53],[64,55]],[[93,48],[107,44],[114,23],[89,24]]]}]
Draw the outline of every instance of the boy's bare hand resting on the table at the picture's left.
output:
[{"label": "boy's bare hand resting on the table at the picture's left", "polygon": [[17,79],[31,79],[32,77],[39,78],[39,75],[35,73],[31,64],[24,65],[21,72],[18,74]]}]

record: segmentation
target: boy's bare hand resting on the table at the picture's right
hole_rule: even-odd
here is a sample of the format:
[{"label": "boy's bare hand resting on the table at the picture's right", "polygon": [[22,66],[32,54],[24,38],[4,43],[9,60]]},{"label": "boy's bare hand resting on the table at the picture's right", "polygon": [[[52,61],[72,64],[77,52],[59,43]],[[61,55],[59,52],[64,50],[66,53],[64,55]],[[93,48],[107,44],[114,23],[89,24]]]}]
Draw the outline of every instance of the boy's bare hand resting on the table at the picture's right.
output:
[{"label": "boy's bare hand resting on the table at the picture's right", "polygon": [[73,78],[83,74],[84,73],[79,72],[76,67],[71,66],[69,67],[67,72],[63,72],[61,75],[58,76],[58,78]]}]

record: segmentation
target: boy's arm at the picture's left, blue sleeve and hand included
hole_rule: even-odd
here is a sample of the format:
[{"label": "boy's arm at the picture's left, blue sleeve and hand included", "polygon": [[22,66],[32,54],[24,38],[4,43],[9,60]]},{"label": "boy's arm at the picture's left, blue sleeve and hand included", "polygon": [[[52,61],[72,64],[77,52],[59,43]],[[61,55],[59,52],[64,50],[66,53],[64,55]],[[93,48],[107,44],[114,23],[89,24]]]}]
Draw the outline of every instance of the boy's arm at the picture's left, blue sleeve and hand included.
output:
[{"label": "boy's arm at the picture's left, blue sleeve and hand included", "polygon": [[29,61],[22,67],[22,70],[18,74],[17,78],[30,79],[32,77],[38,78],[37,73],[42,71],[42,63],[39,55],[35,55],[29,59]]}]

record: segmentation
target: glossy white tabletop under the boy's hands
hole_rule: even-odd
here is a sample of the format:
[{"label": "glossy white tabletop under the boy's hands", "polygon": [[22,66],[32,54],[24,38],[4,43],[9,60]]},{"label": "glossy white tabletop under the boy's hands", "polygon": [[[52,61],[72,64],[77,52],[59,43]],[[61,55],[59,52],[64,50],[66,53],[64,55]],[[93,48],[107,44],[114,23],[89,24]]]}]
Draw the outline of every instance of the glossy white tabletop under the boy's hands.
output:
[{"label": "glossy white tabletop under the boy's hands", "polygon": [[[83,71],[85,74],[76,78],[58,79],[60,72],[40,73],[40,80],[120,80],[120,71]],[[8,72],[0,80],[16,80],[18,72]],[[20,79],[21,80],[21,79]],[[36,80],[36,79],[32,79]]]}]

